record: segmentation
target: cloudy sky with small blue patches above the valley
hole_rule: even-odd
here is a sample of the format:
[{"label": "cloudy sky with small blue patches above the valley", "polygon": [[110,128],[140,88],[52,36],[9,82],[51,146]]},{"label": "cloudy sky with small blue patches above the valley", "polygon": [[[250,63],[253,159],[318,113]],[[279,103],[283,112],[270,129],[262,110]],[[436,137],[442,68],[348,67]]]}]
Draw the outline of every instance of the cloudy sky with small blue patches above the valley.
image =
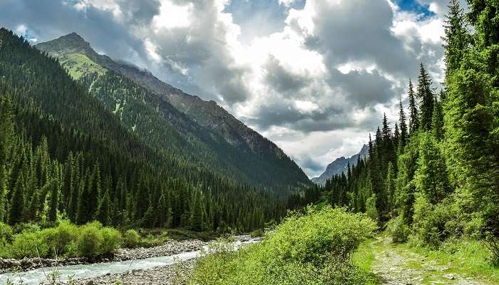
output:
[{"label": "cloudy sky with small blue patches above the valley", "polygon": [[384,113],[397,119],[419,63],[440,87],[446,3],[0,0],[0,26],[32,43],[75,31],[98,53],[217,101],[314,177],[359,152]]}]

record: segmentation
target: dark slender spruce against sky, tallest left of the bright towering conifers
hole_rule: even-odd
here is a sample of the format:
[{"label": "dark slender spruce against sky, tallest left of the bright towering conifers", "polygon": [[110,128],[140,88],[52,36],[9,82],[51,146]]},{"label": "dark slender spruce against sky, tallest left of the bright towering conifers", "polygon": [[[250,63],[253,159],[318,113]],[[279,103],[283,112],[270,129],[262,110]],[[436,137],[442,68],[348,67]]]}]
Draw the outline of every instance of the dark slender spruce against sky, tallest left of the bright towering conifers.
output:
[{"label": "dark slender spruce against sky, tallest left of the bright towering conifers", "polygon": [[431,78],[426,72],[423,63],[419,66],[418,93],[417,97],[421,101],[421,129],[431,130],[431,119],[433,118],[433,107],[435,95],[431,87]]}]

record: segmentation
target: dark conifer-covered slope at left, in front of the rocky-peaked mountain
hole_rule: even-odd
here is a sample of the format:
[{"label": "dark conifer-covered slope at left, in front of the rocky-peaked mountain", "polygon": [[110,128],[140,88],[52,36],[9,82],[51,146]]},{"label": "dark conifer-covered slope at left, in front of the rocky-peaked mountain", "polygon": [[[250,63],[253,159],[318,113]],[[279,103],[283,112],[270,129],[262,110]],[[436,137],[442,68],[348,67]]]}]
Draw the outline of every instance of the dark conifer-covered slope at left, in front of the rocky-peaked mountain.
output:
[{"label": "dark conifer-covered slope at left, in front of the rocky-peaked mountain", "polygon": [[1,221],[248,231],[284,214],[273,195],[149,145],[87,89],[0,29]]}]

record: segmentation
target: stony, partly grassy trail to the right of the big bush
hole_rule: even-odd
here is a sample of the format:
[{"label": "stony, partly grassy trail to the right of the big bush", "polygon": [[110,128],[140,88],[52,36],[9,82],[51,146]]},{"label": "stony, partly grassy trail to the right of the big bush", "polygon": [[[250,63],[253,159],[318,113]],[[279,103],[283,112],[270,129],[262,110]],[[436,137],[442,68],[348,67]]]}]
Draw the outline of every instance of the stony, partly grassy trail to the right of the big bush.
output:
[{"label": "stony, partly grassy trail to the right of the big bush", "polygon": [[475,281],[465,274],[453,272],[452,264],[438,264],[421,254],[397,247],[389,237],[376,237],[369,246],[376,257],[372,270],[381,276],[384,284],[489,285]]}]

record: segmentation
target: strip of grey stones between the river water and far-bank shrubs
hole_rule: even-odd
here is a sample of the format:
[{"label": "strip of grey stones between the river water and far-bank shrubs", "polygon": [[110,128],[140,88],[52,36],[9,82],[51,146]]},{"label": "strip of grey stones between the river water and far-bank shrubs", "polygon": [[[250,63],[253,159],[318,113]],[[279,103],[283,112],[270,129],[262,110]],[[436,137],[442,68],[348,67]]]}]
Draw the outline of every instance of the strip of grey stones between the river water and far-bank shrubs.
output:
[{"label": "strip of grey stones between the river water and far-bank shrubs", "polygon": [[108,257],[98,257],[96,259],[86,259],[83,257],[68,257],[62,259],[0,259],[0,274],[14,271],[29,271],[41,267],[67,266],[77,264],[92,264],[98,262],[126,261],[132,259],[145,259],[148,257],[165,257],[182,252],[195,252],[202,249],[207,242],[197,239],[175,241],[170,240],[159,247],[118,249],[115,254]]}]

